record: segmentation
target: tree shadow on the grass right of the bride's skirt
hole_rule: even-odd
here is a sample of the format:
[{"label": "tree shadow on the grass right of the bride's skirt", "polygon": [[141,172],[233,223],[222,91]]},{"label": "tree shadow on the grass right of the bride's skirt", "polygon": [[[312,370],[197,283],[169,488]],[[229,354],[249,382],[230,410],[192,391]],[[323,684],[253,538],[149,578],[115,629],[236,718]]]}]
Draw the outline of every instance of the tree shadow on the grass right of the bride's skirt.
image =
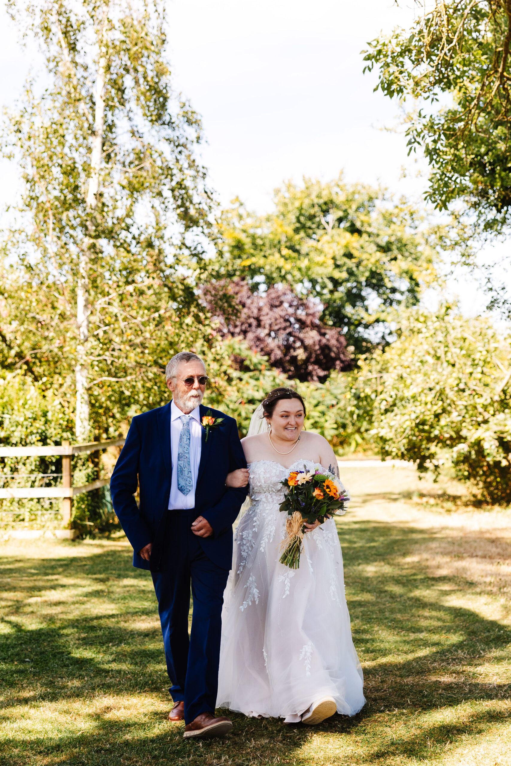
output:
[{"label": "tree shadow on the grass right of the bride's skirt", "polygon": [[[441,535],[441,532],[438,534]],[[382,656],[418,655],[431,664],[449,656],[482,656],[511,642],[511,629],[469,608],[446,604],[480,590],[459,576],[432,576],[414,560],[438,535],[382,522],[355,522],[340,530],[345,559],[346,594],[355,646],[366,662]],[[473,547],[486,545],[486,532],[470,532]],[[421,659],[421,655],[424,655]],[[408,671],[408,668],[407,668]]]}]

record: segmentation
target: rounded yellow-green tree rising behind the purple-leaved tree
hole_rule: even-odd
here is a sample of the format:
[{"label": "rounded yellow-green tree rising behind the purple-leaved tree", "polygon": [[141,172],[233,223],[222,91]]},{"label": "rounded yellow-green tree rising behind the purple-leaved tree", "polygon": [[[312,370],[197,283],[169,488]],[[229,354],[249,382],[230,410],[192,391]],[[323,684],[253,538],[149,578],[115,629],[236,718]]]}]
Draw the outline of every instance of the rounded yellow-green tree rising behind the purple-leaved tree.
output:
[{"label": "rounded yellow-green tree rising behind the purple-leaved tree", "polygon": [[341,328],[356,354],[388,338],[389,310],[415,305],[437,280],[444,235],[381,189],[304,178],[277,189],[274,204],[265,216],[240,201],[223,212],[213,277],[245,277],[252,289],[287,283],[317,298],[322,322]]}]

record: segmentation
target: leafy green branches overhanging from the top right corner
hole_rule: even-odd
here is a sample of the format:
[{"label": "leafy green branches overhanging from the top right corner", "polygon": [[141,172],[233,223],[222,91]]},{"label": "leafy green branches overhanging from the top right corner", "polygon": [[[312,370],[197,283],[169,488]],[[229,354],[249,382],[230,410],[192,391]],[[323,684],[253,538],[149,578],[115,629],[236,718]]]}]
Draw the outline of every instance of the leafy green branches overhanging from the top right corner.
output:
[{"label": "leafy green branches overhanging from the top right corner", "polygon": [[405,104],[408,146],[431,167],[426,198],[463,200],[486,231],[511,221],[510,42],[508,0],[435,0],[363,51],[377,88]]}]

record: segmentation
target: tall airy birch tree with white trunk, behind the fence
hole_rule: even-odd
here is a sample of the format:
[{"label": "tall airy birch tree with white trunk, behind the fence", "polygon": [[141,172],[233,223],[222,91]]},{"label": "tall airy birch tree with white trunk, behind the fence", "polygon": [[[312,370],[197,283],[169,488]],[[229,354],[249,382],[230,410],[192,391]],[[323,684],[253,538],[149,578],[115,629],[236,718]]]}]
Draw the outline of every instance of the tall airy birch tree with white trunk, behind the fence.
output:
[{"label": "tall airy birch tree with white trunk, behind the fence", "polygon": [[8,8],[44,58],[8,114],[24,191],[3,247],[2,366],[54,386],[77,440],[156,406],[214,335],[193,285],[211,214],[201,123],[172,92],[160,0]]}]

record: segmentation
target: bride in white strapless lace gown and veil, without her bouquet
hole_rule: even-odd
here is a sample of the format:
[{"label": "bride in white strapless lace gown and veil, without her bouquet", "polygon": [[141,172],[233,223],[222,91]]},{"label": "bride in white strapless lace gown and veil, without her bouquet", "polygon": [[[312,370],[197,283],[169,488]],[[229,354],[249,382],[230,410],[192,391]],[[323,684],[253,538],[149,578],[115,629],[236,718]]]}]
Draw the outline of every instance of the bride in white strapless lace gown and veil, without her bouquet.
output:
[{"label": "bride in white strapless lace gown and veil, without her bouquet", "polygon": [[248,469],[226,482],[249,481],[251,506],[237,526],[224,592],[217,706],[318,724],[335,712],[355,715],[365,699],[334,520],[305,525],[300,568],[279,562],[282,480],[318,465],[339,477],[326,439],[302,430],[305,415],[296,391],[271,391],[241,442]]}]

